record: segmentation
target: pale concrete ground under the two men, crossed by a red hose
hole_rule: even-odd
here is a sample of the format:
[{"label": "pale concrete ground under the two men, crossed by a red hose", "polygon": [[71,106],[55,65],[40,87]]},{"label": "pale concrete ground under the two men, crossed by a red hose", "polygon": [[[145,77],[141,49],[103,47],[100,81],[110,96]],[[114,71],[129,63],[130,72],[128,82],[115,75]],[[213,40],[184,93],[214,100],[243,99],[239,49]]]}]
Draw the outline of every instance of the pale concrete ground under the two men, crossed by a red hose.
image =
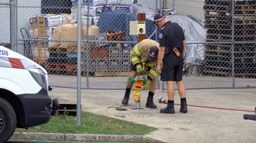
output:
[{"label": "pale concrete ground under the two men, crossed by a red hose", "polygon": [[[141,107],[145,107],[147,93],[141,92]],[[129,104],[123,106],[123,95],[124,90],[81,90],[82,110],[156,127],[157,131],[143,137],[161,142],[256,142],[256,121],[243,119],[244,114],[255,115],[256,89],[187,90],[187,113],[179,112],[176,91],[175,114],[159,112],[166,104],[158,98],[167,99],[166,91],[155,92],[157,109],[116,110],[118,106],[136,107],[132,94]],[[77,90],[54,88],[49,96],[76,102]]]}]

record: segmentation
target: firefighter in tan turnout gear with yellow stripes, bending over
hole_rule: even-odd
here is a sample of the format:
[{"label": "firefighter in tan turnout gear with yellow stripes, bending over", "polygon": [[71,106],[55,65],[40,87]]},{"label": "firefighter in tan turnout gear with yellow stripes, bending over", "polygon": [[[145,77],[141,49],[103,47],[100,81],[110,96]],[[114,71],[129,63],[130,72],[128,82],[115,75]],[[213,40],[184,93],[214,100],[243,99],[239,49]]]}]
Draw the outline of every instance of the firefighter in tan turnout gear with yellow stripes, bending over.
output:
[{"label": "firefighter in tan turnout gear with yellow stripes, bending over", "polygon": [[[130,77],[136,77],[137,73],[143,73],[143,67],[148,69],[146,82],[144,84],[143,89],[149,90],[146,107],[149,108],[157,108],[157,106],[153,102],[153,96],[157,86],[157,61],[158,61],[158,51],[159,51],[159,43],[151,39],[144,39],[139,42],[130,52],[131,59],[131,72],[126,82],[126,90],[124,97],[122,99],[122,104],[128,104],[130,93],[133,84],[130,84]],[[144,63],[144,66],[143,66]],[[161,63],[162,65],[162,63]],[[162,68],[162,66],[161,66]],[[139,95],[140,92],[134,91],[134,96]],[[136,101],[136,99],[135,99]]]}]

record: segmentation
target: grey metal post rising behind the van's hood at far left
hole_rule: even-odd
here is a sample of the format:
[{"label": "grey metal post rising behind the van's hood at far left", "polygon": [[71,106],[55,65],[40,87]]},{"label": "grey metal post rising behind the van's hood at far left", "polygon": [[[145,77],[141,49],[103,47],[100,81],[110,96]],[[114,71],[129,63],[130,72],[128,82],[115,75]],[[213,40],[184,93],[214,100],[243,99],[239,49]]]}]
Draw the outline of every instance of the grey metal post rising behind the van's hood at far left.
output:
[{"label": "grey metal post rising behind the van's hood at far left", "polygon": [[15,51],[15,0],[10,0],[10,44]]}]

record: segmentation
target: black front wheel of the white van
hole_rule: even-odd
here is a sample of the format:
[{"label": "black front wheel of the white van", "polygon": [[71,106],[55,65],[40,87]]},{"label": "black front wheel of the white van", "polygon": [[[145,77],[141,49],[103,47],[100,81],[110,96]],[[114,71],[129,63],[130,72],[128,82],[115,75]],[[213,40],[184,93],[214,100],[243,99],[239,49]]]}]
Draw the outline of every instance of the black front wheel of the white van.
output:
[{"label": "black front wheel of the white van", "polygon": [[7,141],[14,133],[16,114],[10,103],[0,98],[0,143]]}]

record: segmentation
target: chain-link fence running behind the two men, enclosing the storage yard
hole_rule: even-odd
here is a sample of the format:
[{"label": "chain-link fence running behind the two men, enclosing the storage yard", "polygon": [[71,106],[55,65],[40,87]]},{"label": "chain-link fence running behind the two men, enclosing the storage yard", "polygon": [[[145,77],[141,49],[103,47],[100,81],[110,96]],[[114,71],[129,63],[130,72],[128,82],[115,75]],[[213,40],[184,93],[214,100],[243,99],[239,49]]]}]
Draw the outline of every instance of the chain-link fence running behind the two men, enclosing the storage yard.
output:
[{"label": "chain-link fence running behind the two men, enclosing the storage yard", "polygon": [[[3,3],[1,18],[8,21]],[[129,52],[138,43],[132,33],[141,28],[158,41],[160,28],[151,23],[159,12],[184,30],[186,89],[256,87],[256,1],[81,0],[78,6],[77,0],[24,0],[15,7],[16,49],[44,66],[54,87],[76,88],[81,74],[82,89],[125,89]],[[146,13],[142,26],[130,24],[138,13]],[[1,21],[8,37],[9,24]],[[166,90],[166,84],[159,80],[157,88]]]}]

